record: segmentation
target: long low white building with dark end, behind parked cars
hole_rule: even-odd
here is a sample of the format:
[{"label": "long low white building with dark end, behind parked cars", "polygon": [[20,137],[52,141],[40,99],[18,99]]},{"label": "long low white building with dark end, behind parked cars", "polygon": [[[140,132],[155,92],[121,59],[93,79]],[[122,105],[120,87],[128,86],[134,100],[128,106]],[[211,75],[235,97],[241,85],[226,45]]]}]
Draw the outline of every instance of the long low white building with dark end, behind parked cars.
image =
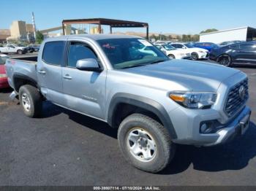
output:
[{"label": "long low white building with dark end, behind parked cars", "polygon": [[234,40],[252,41],[255,38],[256,28],[249,26],[200,34],[200,42],[214,42],[216,44]]}]

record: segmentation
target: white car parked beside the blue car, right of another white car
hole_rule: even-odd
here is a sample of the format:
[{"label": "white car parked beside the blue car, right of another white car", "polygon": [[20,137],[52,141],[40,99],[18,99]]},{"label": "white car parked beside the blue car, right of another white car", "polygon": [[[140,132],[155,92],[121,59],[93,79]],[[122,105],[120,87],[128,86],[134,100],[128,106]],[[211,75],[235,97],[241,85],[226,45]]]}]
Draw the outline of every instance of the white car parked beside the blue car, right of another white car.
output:
[{"label": "white car parked beside the blue car, right of another white car", "polygon": [[209,58],[208,50],[205,50],[203,48],[192,47],[191,44],[187,43],[173,43],[171,45],[173,47],[176,47],[178,50],[186,50],[191,55],[191,59],[193,61]]}]

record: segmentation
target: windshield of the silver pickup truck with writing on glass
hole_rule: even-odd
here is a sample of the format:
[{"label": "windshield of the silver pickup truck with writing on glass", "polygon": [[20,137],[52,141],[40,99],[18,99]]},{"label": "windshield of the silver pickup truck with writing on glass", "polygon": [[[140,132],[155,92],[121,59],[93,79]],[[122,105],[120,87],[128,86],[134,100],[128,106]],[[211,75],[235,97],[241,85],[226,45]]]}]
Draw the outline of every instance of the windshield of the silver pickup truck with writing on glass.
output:
[{"label": "windshield of the silver pickup truck with writing on glass", "polygon": [[146,39],[102,39],[97,41],[114,69],[144,66],[169,58]]}]

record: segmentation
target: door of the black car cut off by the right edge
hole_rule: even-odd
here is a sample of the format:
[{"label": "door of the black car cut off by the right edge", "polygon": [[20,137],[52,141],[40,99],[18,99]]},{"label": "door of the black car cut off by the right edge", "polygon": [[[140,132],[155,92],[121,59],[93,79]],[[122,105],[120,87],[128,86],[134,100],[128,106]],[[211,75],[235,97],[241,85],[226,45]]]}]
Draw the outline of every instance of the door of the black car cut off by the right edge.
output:
[{"label": "door of the black car cut off by the right edge", "polygon": [[240,44],[237,61],[239,63],[256,63],[256,43],[248,42]]}]

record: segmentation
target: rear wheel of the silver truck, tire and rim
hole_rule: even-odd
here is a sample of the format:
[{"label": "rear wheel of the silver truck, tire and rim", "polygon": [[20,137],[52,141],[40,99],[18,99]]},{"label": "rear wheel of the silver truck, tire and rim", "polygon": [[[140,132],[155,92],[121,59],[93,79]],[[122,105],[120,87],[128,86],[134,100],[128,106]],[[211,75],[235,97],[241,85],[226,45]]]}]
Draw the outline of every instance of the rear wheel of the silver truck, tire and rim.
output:
[{"label": "rear wheel of the silver truck, tire and rim", "polygon": [[[19,90],[19,100],[26,116],[39,117],[42,111],[42,95],[37,90],[37,87],[31,85],[21,86]],[[26,106],[28,103],[26,103],[25,100],[29,101],[29,107]]]}]

